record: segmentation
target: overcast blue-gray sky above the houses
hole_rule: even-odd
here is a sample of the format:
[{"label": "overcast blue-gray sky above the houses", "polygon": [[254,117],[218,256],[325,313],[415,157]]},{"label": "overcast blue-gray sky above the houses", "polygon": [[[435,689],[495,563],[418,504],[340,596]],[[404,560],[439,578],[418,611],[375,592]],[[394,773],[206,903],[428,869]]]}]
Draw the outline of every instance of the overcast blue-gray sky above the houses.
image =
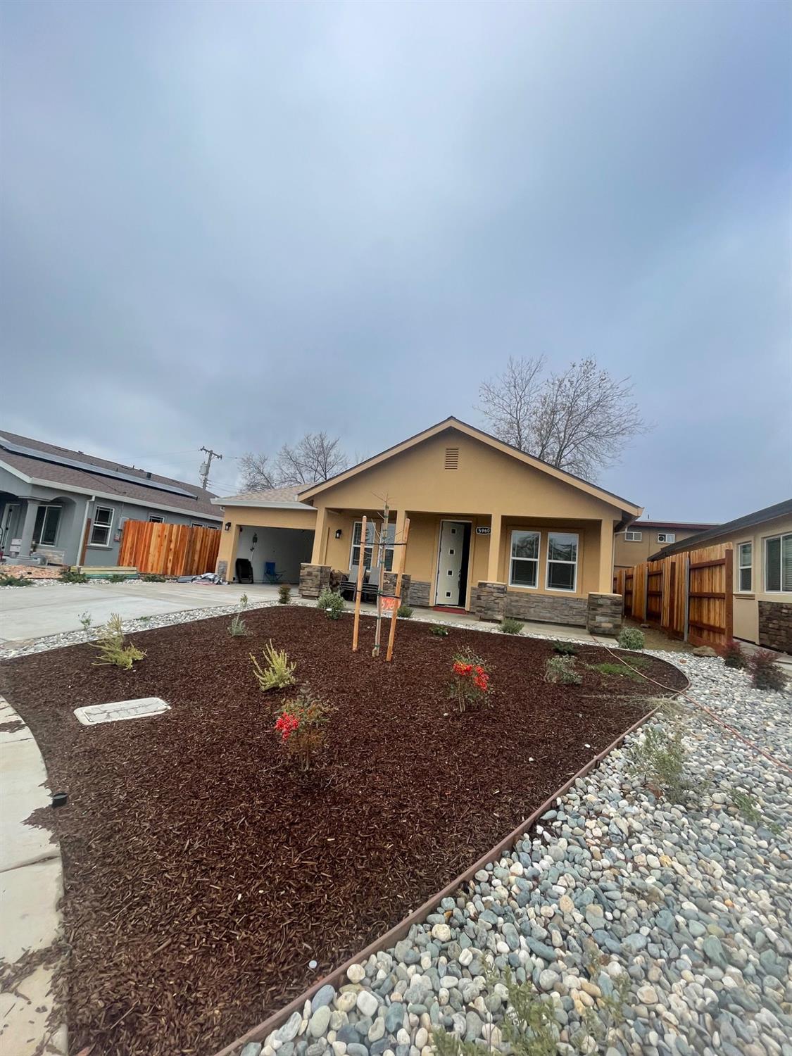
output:
[{"label": "overcast blue-gray sky above the houses", "polygon": [[374,454],[509,355],[630,375],[601,483],[792,493],[792,5],[5,2],[2,428],[197,479]]}]

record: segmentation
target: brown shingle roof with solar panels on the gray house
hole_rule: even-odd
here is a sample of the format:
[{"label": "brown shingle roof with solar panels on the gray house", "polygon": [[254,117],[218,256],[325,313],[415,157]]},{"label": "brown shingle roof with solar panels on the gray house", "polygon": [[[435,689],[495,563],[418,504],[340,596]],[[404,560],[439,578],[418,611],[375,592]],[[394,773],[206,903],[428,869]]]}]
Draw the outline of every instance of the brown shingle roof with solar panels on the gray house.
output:
[{"label": "brown shingle roof with solar panels on the gray house", "polygon": [[196,484],[148,473],[17,433],[0,432],[0,467],[25,484],[117,498],[220,521],[214,497]]}]

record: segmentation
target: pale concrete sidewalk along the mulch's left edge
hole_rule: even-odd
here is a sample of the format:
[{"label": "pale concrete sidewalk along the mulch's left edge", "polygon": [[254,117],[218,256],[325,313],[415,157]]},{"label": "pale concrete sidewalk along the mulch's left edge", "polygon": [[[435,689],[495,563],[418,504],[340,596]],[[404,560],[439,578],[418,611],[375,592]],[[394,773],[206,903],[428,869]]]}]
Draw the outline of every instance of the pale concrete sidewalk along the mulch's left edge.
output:
[{"label": "pale concrete sidewalk along the mulch's left edge", "polygon": [[[0,960],[15,964],[46,949],[58,937],[63,892],[60,849],[44,829],[25,824],[34,810],[50,808],[41,753],[14,709],[0,697]],[[14,1056],[67,1052],[65,1025],[52,1027],[54,965],[32,967],[13,988],[0,992],[0,1048]],[[45,1045],[42,1042],[46,1042]]]}]

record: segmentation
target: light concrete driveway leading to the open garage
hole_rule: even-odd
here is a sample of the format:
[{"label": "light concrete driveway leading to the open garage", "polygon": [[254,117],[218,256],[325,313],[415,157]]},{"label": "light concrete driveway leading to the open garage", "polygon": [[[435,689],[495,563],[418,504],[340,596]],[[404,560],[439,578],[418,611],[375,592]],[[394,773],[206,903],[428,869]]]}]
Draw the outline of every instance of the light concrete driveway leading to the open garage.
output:
[{"label": "light concrete driveway leading to the open garage", "polygon": [[135,581],[3,588],[0,589],[0,646],[79,630],[82,612],[90,612],[96,626],[105,623],[113,612],[119,612],[124,620],[134,620],[140,616],[162,616],[210,605],[233,605],[244,593],[254,605],[277,598],[278,587]]}]

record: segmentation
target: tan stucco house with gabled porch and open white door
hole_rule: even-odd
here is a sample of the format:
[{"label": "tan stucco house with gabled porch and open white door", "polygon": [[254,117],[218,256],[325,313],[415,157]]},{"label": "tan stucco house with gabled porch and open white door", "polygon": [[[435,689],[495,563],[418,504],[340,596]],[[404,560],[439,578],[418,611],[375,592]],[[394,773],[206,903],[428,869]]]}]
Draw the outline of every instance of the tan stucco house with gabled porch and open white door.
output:
[{"label": "tan stucco house with gabled porch and open white door", "polygon": [[232,580],[248,559],[261,582],[270,562],[315,597],[332,570],[357,564],[361,518],[381,518],[385,497],[391,544],[410,518],[408,545],[389,546],[386,567],[395,578],[403,561],[411,605],[620,623],[614,536],[641,507],[453,417],[321,484],[214,499],[225,509],[218,572]]}]

